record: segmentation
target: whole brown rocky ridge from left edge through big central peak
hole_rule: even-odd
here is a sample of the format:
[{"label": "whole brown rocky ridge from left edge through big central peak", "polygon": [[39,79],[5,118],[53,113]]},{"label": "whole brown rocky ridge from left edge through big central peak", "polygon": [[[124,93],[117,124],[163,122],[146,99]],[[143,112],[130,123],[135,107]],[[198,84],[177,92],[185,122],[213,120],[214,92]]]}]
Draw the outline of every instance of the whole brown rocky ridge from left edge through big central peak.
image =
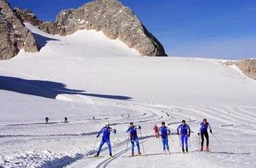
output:
[{"label": "whole brown rocky ridge from left edge through big central peak", "polygon": [[0,0],[0,59],[10,59],[20,49],[27,52],[39,50],[37,41],[23,22],[60,36],[77,30],[101,30],[110,39],[119,39],[136,49],[140,55],[167,56],[162,44],[146,30],[133,11],[117,0],[98,0],[78,9],[61,11],[56,22],[40,21],[30,10],[12,10],[6,0]]}]

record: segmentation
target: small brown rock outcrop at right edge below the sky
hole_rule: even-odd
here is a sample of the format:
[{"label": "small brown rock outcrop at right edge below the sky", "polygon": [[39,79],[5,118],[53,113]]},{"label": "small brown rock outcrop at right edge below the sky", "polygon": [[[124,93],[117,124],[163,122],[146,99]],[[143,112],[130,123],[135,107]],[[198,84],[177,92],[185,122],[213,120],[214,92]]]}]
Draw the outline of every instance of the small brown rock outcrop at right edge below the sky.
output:
[{"label": "small brown rock outcrop at right edge below the sky", "polygon": [[235,62],[235,65],[249,78],[256,80],[256,59],[244,59]]}]

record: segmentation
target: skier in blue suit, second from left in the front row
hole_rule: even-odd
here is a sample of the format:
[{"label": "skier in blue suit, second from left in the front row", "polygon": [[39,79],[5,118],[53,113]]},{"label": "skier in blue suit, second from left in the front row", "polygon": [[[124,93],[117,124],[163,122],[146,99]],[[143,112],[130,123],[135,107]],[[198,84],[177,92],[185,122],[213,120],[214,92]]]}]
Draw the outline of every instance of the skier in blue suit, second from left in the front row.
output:
[{"label": "skier in blue suit, second from left in the front row", "polygon": [[130,127],[127,129],[126,132],[130,133],[130,140],[132,144],[132,157],[134,156],[134,143],[136,143],[137,149],[138,149],[138,154],[141,155],[140,153],[140,148],[139,148],[139,138],[137,135],[137,129],[141,129],[139,126],[138,128],[133,125],[133,122],[130,122]]}]

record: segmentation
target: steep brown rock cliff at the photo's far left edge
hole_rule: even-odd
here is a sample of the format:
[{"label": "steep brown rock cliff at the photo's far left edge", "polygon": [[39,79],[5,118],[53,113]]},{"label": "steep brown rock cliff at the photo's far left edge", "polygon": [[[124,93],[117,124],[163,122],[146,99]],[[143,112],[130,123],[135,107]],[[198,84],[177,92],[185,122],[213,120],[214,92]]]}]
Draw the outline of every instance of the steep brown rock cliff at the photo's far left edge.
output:
[{"label": "steep brown rock cliff at the photo's far left edge", "polygon": [[0,34],[0,59],[11,59],[20,49],[27,52],[39,50],[33,34],[5,0],[0,0]]}]

